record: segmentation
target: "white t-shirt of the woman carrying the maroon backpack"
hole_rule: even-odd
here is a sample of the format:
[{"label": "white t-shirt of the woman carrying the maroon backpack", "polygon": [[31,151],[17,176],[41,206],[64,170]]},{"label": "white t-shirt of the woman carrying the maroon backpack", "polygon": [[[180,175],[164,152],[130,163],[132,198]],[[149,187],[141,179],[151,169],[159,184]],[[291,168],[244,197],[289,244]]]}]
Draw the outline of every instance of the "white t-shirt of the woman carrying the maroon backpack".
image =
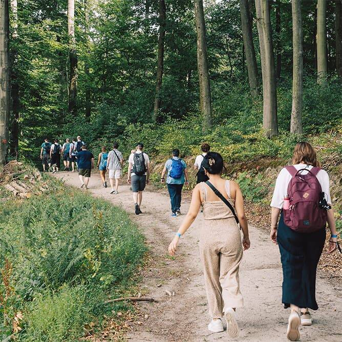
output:
[{"label": "white t-shirt of the woman carrying the maroon backpack", "polygon": [[[296,164],[293,165],[297,170],[300,170],[301,168],[307,168],[311,169],[313,166],[306,165],[306,164]],[[303,175],[306,175],[308,171],[303,171]],[[322,191],[325,193],[325,198],[328,202],[328,204],[331,204],[331,197],[330,197],[330,184],[329,184],[329,176],[325,170],[319,170],[317,174],[317,179],[322,187]],[[275,188],[274,193],[271,201],[271,207],[274,208],[283,208],[284,203],[284,197],[287,195],[287,187],[290,183],[292,176],[288,172],[288,170],[284,167],[281,169],[281,172],[279,173],[276,182],[275,182]]]}]

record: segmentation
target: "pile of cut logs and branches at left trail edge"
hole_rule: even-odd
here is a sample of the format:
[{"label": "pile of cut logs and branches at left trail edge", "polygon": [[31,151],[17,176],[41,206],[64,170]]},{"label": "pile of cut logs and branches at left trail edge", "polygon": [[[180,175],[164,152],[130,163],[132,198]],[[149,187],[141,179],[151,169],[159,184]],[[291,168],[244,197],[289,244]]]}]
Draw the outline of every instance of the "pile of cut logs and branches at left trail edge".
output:
[{"label": "pile of cut logs and branches at left trail edge", "polygon": [[0,185],[13,196],[22,199],[40,195],[47,190],[46,183],[39,182],[40,179],[41,174],[38,170],[31,170],[16,160],[10,161],[0,171]]}]

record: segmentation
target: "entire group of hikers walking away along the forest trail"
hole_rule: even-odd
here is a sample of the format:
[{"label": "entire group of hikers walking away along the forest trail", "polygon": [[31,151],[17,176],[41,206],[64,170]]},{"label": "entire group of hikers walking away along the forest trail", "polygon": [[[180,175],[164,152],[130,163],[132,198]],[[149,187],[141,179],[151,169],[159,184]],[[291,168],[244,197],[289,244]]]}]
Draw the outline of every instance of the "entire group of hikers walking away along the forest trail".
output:
[{"label": "entire group of hikers walking away along the forest trail", "polygon": [[[55,140],[41,145],[41,159],[51,160],[53,171],[59,164],[54,155],[63,156],[65,169],[77,163],[82,188],[88,188],[94,155],[80,137],[63,146]],[[102,147],[98,155],[102,186],[107,187],[105,175],[109,170],[111,194],[118,194],[119,179],[122,177],[124,160],[118,143],[107,153]],[[79,150],[80,148],[80,150]],[[142,194],[149,183],[151,165],[144,145],[138,143],[128,159],[127,183],[133,192],[136,215],[142,213]],[[78,151],[79,150],[79,151]],[[231,338],[239,334],[236,309],[243,306],[240,291],[239,267],[243,251],[249,249],[248,223],[244,210],[244,199],[238,183],[222,177],[224,160],[219,153],[210,152],[207,143],[201,145],[201,154],[196,157],[197,185],[192,194],[190,208],[173,241],[168,247],[175,255],[180,238],[193,224],[199,212],[203,212],[204,223],[200,227],[200,257],[204,270],[211,321],[210,332],[226,330]],[[55,164],[54,164],[55,163]],[[184,184],[189,181],[187,165],[180,158],[179,149],[165,162],[161,173],[166,182],[171,205],[171,217],[181,214],[181,195]],[[279,246],[283,267],[282,303],[290,308],[287,338],[300,339],[300,326],[310,326],[312,317],[309,309],[317,310],[315,297],[316,269],[326,240],[326,224],[330,229],[328,252],[332,253],[337,243],[336,224],[331,207],[329,176],[320,168],[315,149],[308,142],[297,143],[292,165],[284,167],[277,176],[271,205],[271,240]],[[242,238],[241,238],[242,232]],[[340,248],[339,248],[340,250]]]}]

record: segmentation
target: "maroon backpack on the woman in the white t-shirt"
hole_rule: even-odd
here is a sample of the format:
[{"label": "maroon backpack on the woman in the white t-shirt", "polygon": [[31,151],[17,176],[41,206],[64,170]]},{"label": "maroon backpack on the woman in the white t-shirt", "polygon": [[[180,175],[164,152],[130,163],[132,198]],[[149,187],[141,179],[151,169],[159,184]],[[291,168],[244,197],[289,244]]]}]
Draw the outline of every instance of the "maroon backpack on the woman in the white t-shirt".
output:
[{"label": "maroon backpack on the woman in the white t-shirt", "polygon": [[[327,210],[319,207],[322,187],[316,175],[320,168],[297,170],[290,165],[286,166],[286,169],[292,179],[287,188],[290,207],[287,210],[283,209],[285,224],[300,233],[311,233],[322,229],[327,224]],[[308,173],[302,175],[303,170],[307,170]]]}]

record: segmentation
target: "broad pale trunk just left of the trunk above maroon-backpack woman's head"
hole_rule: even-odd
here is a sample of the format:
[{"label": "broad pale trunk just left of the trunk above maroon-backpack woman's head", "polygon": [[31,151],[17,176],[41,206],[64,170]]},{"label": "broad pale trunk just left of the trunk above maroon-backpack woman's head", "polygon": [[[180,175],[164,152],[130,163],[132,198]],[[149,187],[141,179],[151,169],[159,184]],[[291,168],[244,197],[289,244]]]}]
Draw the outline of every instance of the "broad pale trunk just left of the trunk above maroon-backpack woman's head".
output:
[{"label": "broad pale trunk just left of the trunk above maroon-backpack woman's head", "polygon": [[269,2],[267,0],[255,0],[255,10],[257,12],[263,76],[263,128],[265,136],[271,138],[278,133],[278,123]]}]

